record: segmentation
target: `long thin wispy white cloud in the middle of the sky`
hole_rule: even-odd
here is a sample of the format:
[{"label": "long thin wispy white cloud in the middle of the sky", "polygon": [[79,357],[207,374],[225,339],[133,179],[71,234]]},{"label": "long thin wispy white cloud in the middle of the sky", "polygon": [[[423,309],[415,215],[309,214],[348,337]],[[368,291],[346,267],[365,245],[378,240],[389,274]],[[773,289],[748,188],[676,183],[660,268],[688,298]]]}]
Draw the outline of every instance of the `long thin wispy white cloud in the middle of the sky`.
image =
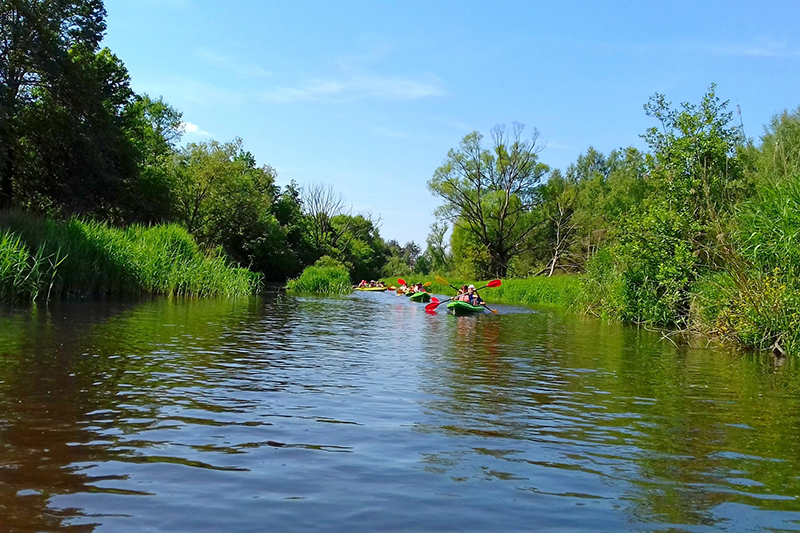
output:
[{"label": "long thin wispy white cloud in the middle of the sky", "polygon": [[312,79],[294,87],[276,87],[262,93],[268,102],[350,101],[365,99],[415,100],[444,94],[435,76],[409,79],[397,76],[353,75],[339,79]]}]

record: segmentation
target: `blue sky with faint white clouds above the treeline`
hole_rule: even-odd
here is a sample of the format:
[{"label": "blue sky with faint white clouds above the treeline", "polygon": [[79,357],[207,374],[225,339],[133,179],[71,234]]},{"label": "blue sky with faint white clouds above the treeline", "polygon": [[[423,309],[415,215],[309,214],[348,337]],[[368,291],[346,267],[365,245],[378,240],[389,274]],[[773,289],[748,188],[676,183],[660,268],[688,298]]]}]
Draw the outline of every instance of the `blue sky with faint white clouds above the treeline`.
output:
[{"label": "blue sky with faint white clouds above the treeline", "polygon": [[634,145],[656,92],[711,83],[745,133],[800,105],[800,2],[106,0],[104,45],[185,142],[241,137],[278,183],[331,184],[424,248],[426,182],[471,131],[540,132],[565,169]]}]

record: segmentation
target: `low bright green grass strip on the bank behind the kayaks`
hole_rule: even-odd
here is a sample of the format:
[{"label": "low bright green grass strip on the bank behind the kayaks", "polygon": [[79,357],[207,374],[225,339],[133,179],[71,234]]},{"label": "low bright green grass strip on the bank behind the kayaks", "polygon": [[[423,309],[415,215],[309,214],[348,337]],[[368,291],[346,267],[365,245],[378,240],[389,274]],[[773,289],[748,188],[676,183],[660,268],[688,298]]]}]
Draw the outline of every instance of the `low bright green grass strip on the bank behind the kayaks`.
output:
[{"label": "low bright green grass strip on the bank behind the kayaks", "polygon": [[[430,281],[430,292],[454,295],[455,291],[448,285],[437,283],[434,276],[408,276],[403,278],[408,283],[425,283]],[[450,285],[473,284],[480,288],[487,281],[462,280],[447,278]],[[384,278],[387,285],[397,285],[397,278]],[[579,276],[531,277],[521,279],[505,279],[500,287],[487,288],[481,291],[481,297],[488,303],[509,305],[552,305],[573,311],[581,308],[582,292]]]}]

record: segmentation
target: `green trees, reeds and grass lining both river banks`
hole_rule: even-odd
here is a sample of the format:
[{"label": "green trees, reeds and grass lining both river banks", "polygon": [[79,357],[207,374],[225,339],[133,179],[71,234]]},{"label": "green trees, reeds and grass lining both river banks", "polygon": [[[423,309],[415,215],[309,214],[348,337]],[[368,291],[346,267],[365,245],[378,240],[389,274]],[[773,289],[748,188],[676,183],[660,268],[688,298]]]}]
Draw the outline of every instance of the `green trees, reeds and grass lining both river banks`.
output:
[{"label": "green trees, reeds and grass lining both river banks", "polygon": [[489,302],[800,354],[800,108],[752,140],[713,84],[698,104],[656,93],[646,150],[590,146],[563,170],[540,160],[535,129],[469,133],[432,169],[422,249],[384,240],[330,185],[277,186],[242,139],[181,145],[181,112],[136,94],[101,47],[105,16],[98,0],[0,5],[20,36],[0,54],[2,301],[237,295],[262,280],[347,293],[435,272],[502,279]]}]

